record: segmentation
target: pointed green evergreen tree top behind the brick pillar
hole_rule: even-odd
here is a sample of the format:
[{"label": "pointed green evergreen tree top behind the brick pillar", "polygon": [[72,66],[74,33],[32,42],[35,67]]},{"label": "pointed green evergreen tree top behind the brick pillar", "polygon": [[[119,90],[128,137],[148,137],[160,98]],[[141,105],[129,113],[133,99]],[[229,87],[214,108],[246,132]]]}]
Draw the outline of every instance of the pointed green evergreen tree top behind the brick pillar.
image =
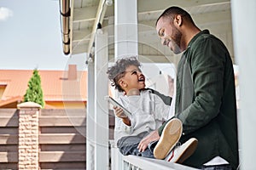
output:
[{"label": "pointed green evergreen tree top behind the brick pillar", "polygon": [[33,75],[28,82],[28,88],[24,95],[24,102],[32,101],[38,103],[44,108],[44,94],[41,87],[41,77],[38,74],[38,70],[33,71]]}]

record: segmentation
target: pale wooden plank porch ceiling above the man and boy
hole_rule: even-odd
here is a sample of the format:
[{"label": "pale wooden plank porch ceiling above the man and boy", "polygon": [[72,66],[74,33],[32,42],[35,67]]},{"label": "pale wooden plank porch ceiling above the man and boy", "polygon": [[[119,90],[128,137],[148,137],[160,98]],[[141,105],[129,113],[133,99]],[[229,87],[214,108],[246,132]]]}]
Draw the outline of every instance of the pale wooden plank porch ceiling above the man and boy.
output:
[{"label": "pale wooden plank porch ceiling above the man and boy", "polygon": [[[100,21],[102,22],[103,29],[109,26],[108,50],[109,56],[113,57],[114,4],[107,5],[105,11],[103,10],[102,13],[99,12],[107,1],[71,0],[71,15],[69,20],[70,44],[68,44],[68,53],[90,53],[94,32],[96,31],[97,23]],[[195,23],[201,28],[212,26],[213,31],[219,31],[221,28],[218,25],[222,25],[223,23],[225,23],[224,26],[228,27],[224,27],[223,29],[227,30],[231,27],[230,0],[137,0],[139,55],[146,56],[155,62],[172,60],[172,52],[160,45],[160,40],[154,30],[155,20],[157,20],[158,16],[167,7],[172,5],[185,8],[192,15]],[[63,48],[63,50],[65,49]]]}]

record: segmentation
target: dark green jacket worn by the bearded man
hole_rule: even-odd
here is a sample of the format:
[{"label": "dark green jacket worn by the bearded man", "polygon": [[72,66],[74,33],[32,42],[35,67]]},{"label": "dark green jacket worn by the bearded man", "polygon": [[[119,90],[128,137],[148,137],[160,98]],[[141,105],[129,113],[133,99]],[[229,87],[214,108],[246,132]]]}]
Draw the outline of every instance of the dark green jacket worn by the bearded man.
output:
[{"label": "dark green jacket worn by the bearded man", "polygon": [[[224,43],[209,31],[189,42],[177,65],[175,117],[183,122],[183,143],[198,139],[183,164],[201,167],[221,156],[238,166],[236,92],[232,61]],[[162,133],[165,124],[159,128]]]}]

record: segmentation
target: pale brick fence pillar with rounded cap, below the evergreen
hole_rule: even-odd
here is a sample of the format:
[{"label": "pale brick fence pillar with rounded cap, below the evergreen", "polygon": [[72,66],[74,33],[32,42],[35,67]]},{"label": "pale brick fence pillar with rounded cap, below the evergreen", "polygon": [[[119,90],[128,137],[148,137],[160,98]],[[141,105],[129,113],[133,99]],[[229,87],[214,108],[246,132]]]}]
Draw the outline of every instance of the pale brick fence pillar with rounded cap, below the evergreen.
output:
[{"label": "pale brick fence pillar with rounded cap, below the evergreen", "polygon": [[39,169],[38,115],[42,108],[33,102],[17,105],[19,113],[19,170]]}]

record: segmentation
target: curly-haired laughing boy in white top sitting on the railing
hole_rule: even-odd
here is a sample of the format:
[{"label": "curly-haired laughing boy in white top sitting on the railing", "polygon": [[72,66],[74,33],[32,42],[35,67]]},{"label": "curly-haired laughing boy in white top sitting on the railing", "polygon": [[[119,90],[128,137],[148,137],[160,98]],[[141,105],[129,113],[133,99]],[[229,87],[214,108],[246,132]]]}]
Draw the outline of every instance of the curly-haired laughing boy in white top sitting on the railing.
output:
[{"label": "curly-haired laughing boy in white top sitting on the railing", "polygon": [[[159,141],[148,144],[145,150],[138,150],[140,141],[166,122],[170,110],[170,106],[165,105],[156,95],[157,93],[154,94],[154,90],[145,88],[145,77],[140,66],[137,59],[131,57],[119,59],[115,65],[108,68],[111,85],[125,94],[119,97],[119,103],[131,112],[131,116],[125,116],[121,108],[114,108],[116,115],[114,139],[119,151],[125,156],[165,159],[181,137],[182,123],[178,119],[172,119]],[[188,142],[183,145],[179,155],[169,161],[181,163],[191,155],[197,140],[189,139]]]}]

